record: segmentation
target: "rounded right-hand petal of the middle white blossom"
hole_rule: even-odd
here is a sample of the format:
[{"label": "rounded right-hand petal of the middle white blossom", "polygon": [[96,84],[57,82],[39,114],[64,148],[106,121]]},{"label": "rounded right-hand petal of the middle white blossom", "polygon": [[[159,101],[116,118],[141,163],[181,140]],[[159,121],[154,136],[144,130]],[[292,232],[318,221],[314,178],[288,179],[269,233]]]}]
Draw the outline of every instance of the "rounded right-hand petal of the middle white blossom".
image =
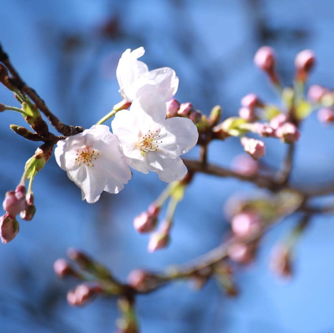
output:
[{"label": "rounded right-hand petal of the middle white blossom", "polygon": [[162,143],[159,147],[176,155],[185,154],[195,146],[198,131],[195,124],[188,118],[174,117],[166,119],[160,131]]}]

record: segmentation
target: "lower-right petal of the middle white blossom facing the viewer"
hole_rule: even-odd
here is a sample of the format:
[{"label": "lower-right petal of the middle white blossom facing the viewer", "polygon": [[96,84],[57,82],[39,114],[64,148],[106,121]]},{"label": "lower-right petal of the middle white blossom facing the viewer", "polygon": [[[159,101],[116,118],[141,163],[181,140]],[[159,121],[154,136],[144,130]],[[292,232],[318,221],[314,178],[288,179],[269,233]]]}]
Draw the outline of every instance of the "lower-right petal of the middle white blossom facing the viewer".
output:
[{"label": "lower-right petal of the middle white blossom facing the viewer", "polygon": [[144,158],[145,166],[159,175],[159,179],[170,183],[181,180],[188,172],[182,159],[164,150],[149,151]]}]

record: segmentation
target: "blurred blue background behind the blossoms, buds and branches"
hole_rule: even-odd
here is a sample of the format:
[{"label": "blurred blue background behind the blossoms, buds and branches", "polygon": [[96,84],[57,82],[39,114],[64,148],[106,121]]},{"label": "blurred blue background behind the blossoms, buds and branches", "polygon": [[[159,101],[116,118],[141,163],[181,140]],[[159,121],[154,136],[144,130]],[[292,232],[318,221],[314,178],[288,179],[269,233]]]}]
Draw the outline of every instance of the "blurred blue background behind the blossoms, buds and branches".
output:
[{"label": "blurred blue background behind the blossoms, buds and branches", "polygon": [[[318,63],[310,83],[333,87],[333,15],[331,0],[3,0],[0,40],[49,108],[65,123],[88,128],[120,101],[116,67],[126,48],[144,46],[142,60],[149,69],[175,69],[180,102],[190,101],[204,113],[220,104],[223,117],[235,115],[248,92],[278,102],[253,65],[264,44],[276,49],[284,83],[291,84],[295,54],[311,48]],[[0,101],[18,106],[3,86]],[[18,184],[38,143],[10,131],[11,123],[26,124],[19,114],[0,116],[4,196]],[[286,147],[274,139],[266,139],[266,145],[264,160],[277,167]],[[237,139],[213,142],[209,159],[228,166],[241,151]],[[194,148],[188,155],[197,153]],[[333,180],[333,157],[333,128],[312,114],[297,144],[293,183]],[[113,332],[116,302],[97,299],[84,308],[69,307],[66,292],[74,284],[54,275],[55,259],[68,247],[84,249],[120,279],[134,268],[183,263],[220,244],[230,195],[256,191],[235,180],[196,175],[177,208],[170,246],[149,254],[148,236],[139,235],[132,221],[164,187],[156,174],[134,172],[120,194],[104,193],[89,205],[52,156],[34,182],[34,219],[21,221],[17,238],[0,248],[1,332]],[[223,295],[214,281],[200,291],[176,282],[138,297],[142,332],[334,332],[332,217],[312,219],[298,242],[289,283],[268,270],[271,247],[295,222],[289,218],[269,232],[255,263],[237,271],[236,298]]]}]

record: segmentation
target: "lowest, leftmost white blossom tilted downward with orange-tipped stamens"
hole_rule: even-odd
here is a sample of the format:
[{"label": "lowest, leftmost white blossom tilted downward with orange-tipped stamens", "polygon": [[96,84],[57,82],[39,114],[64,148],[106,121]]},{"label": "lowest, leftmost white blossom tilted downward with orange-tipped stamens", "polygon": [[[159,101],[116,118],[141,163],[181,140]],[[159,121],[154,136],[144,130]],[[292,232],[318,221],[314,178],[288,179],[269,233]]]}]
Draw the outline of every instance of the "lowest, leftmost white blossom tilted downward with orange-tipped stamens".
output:
[{"label": "lowest, leftmost white blossom tilted downward with orange-tipped stamens", "polygon": [[118,139],[106,125],[94,125],[58,141],[54,155],[81,189],[82,200],[90,204],[100,199],[102,191],[118,193],[131,178]]}]

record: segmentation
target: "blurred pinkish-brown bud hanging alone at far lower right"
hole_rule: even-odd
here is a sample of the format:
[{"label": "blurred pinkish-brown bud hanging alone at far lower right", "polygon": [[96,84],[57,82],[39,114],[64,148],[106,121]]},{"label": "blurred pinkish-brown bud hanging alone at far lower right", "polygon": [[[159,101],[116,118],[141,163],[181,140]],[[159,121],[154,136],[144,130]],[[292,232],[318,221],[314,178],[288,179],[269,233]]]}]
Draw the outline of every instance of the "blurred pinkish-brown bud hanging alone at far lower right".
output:
[{"label": "blurred pinkish-brown bud hanging alone at far lower right", "polygon": [[289,249],[285,245],[277,245],[271,251],[269,262],[271,271],[281,277],[291,277],[292,267]]}]

